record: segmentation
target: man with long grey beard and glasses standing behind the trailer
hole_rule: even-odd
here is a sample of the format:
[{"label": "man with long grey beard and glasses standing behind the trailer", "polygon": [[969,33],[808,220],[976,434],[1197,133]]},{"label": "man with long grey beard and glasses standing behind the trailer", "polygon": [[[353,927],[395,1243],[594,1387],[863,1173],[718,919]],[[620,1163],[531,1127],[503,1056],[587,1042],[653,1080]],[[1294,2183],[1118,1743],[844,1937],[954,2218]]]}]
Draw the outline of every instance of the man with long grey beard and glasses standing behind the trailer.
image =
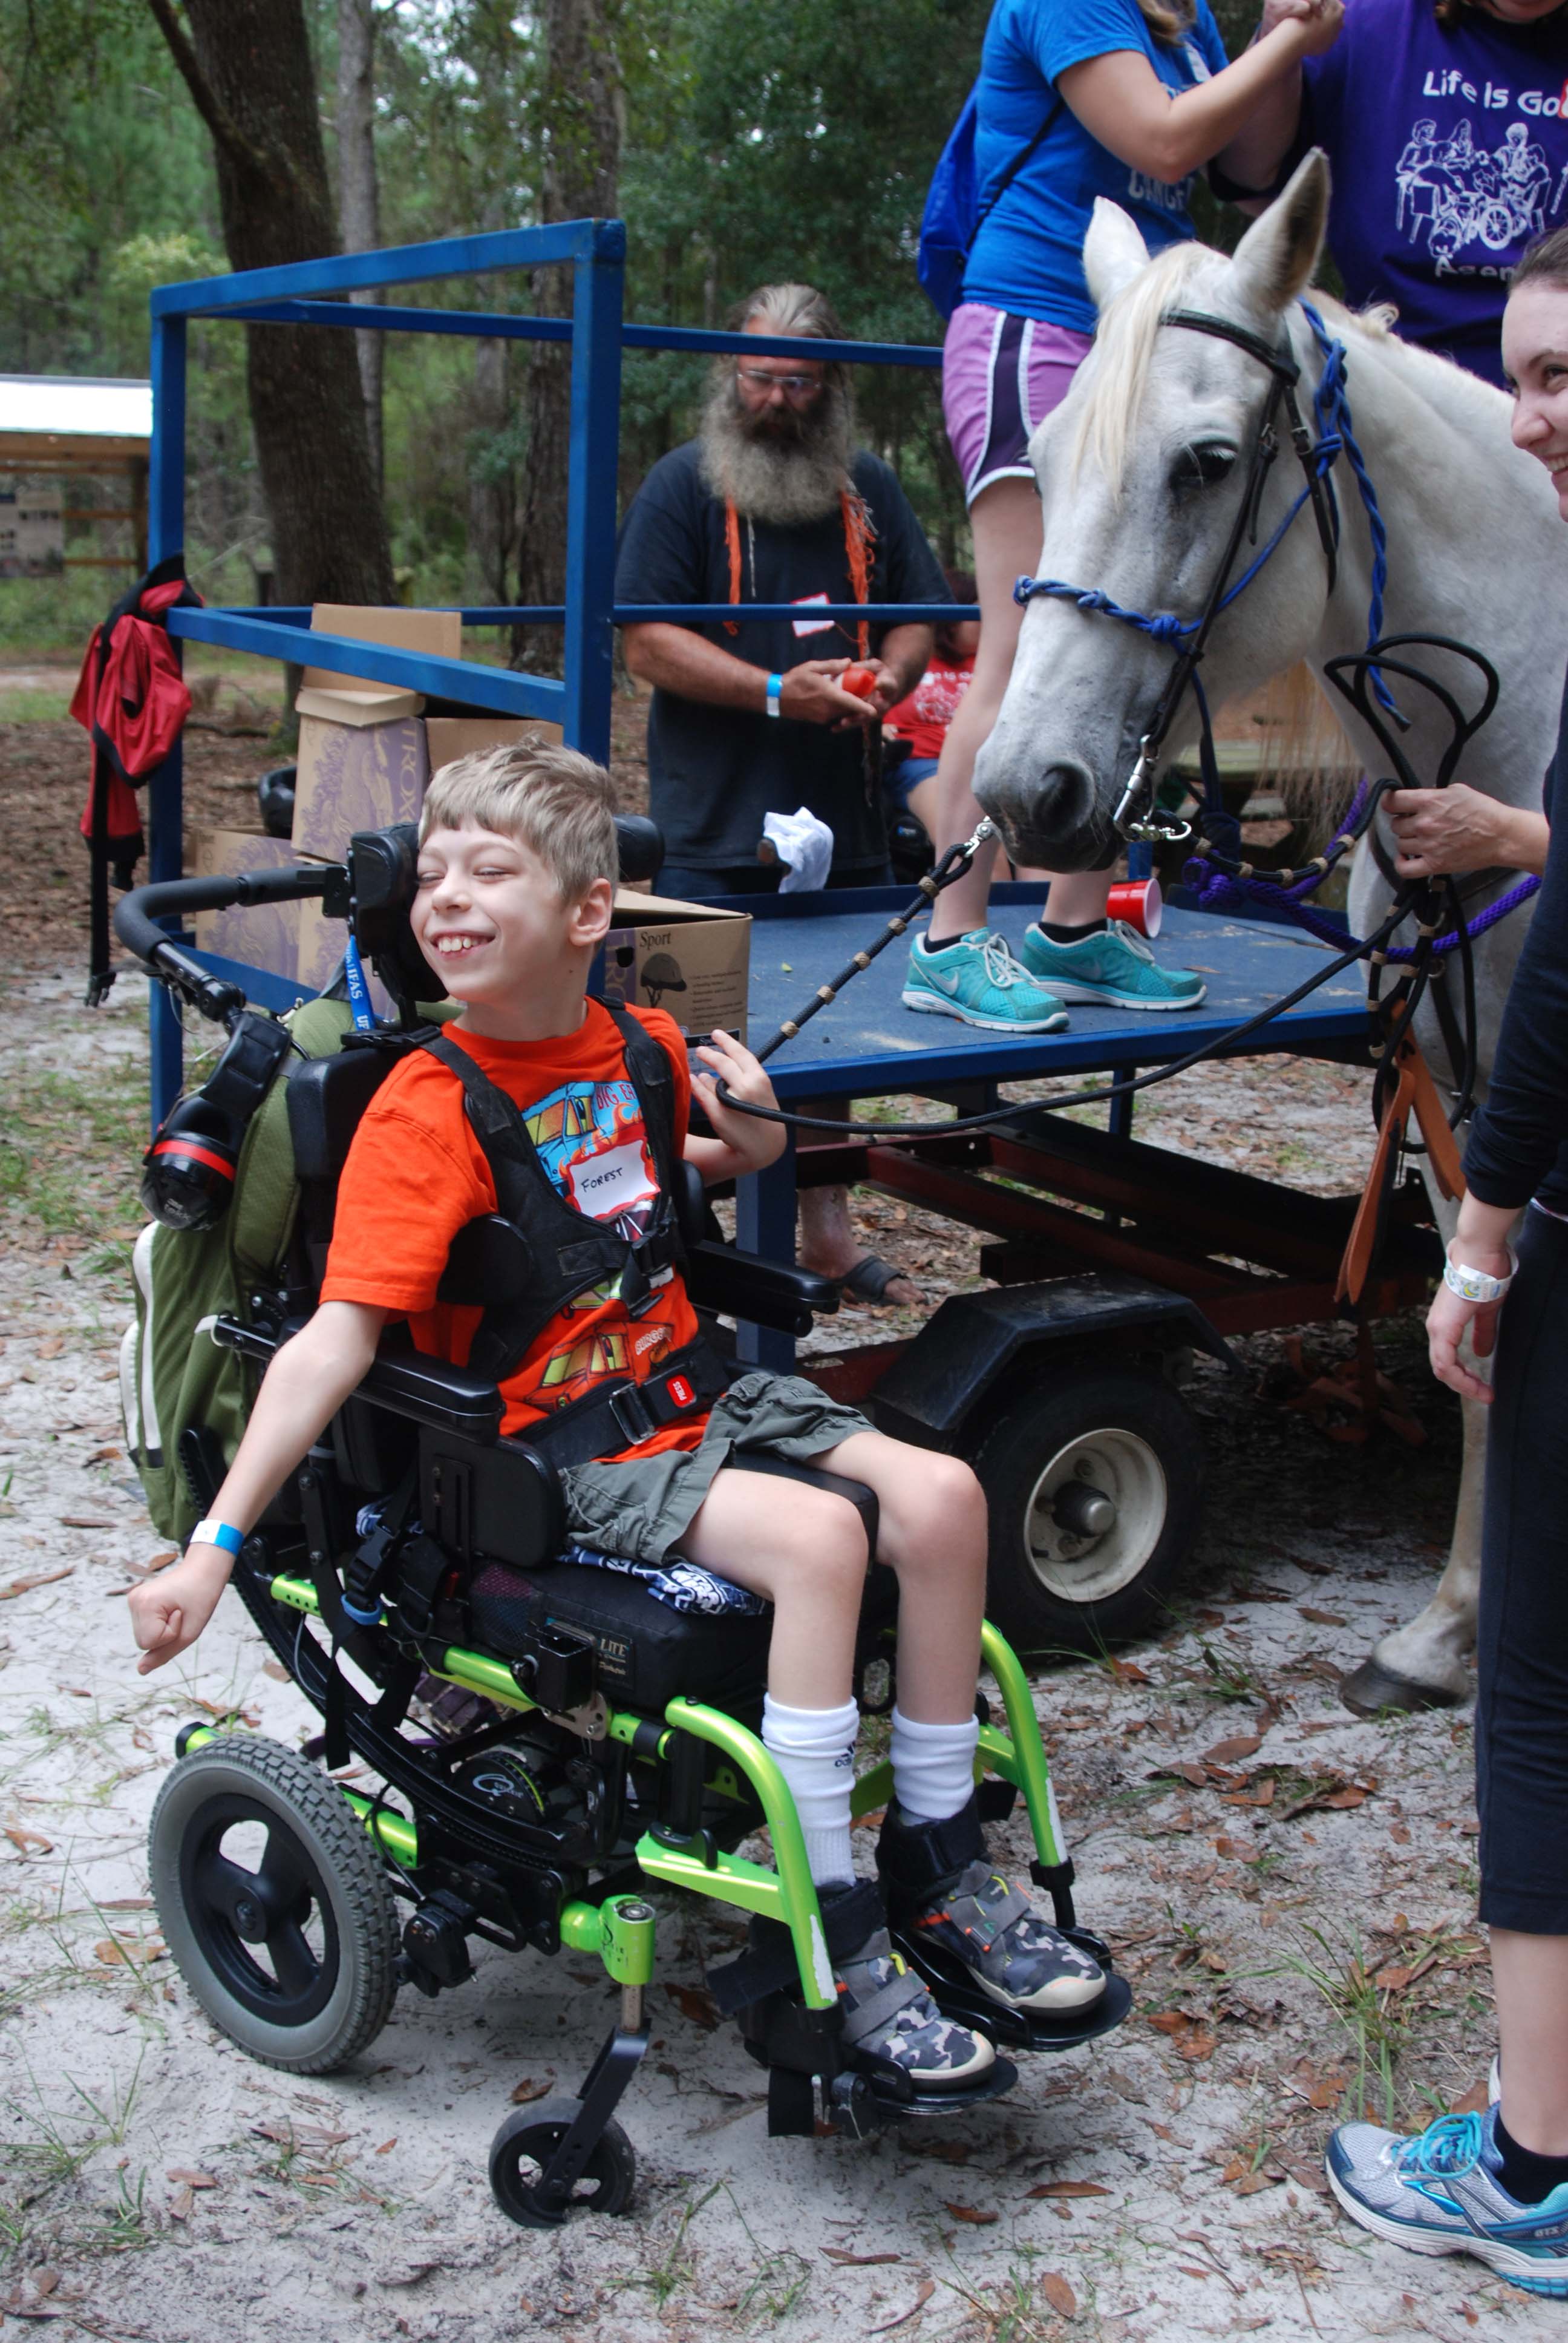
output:
[{"label": "man with long grey beard and glasses standing behind the trailer", "polygon": [[[734,330],[841,340],[811,286],[762,286]],[[649,813],[661,895],[755,895],[762,818],[809,806],[832,829],[830,886],[888,886],[867,729],[926,672],[930,626],[813,619],[813,602],[949,602],[935,553],[888,466],[855,450],[848,368],[743,351],[720,358],[698,438],[649,471],[621,530],[616,602],[734,602],[715,623],[628,626],[626,665],[654,686]],[[799,619],[748,619],[797,602]],[[860,651],[865,649],[865,661]],[[841,689],[848,665],[877,689]]]}]

